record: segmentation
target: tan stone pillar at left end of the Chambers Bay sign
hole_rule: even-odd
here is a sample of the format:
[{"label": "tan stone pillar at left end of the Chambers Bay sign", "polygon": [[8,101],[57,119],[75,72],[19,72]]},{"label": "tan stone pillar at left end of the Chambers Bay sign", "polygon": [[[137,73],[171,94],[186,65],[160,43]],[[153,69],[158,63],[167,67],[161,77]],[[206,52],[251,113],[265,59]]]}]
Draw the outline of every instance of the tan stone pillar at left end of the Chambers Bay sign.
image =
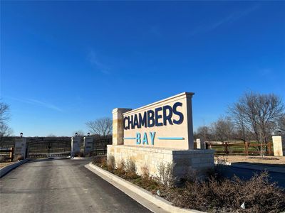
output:
[{"label": "tan stone pillar at left end of the Chambers Bay sign", "polygon": [[115,108],[113,109],[113,145],[123,145],[124,124],[123,113],[132,109]]}]

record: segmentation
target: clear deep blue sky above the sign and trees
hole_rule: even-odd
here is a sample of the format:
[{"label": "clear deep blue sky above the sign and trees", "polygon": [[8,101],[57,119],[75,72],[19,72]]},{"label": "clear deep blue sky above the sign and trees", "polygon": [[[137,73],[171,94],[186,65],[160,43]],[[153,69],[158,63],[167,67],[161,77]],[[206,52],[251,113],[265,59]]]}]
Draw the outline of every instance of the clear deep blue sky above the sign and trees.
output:
[{"label": "clear deep blue sky above the sign and trees", "polygon": [[1,100],[15,135],[195,92],[195,129],[244,92],[285,99],[284,1],[1,1]]}]

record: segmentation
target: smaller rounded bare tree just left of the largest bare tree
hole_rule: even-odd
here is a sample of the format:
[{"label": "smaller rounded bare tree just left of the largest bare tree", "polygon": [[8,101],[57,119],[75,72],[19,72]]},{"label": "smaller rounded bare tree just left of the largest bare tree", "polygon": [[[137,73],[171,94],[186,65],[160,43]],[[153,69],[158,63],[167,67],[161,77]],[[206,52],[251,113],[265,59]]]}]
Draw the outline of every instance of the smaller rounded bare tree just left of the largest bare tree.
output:
[{"label": "smaller rounded bare tree just left of the largest bare tree", "polygon": [[229,117],[220,117],[217,121],[212,123],[212,133],[217,138],[217,140],[222,141],[229,141],[233,139],[234,134],[234,124],[232,123]]}]

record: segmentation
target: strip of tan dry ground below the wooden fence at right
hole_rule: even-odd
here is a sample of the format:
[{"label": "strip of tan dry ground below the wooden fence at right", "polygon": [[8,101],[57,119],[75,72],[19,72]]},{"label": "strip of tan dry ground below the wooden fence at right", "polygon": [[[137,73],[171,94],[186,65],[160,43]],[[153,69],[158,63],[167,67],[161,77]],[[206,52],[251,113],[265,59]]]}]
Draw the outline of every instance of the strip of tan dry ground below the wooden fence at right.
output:
[{"label": "strip of tan dry ground below the wooden fence at right", "polygon": [[[217,157],[215,157],[216,159]],[[227,156],[219,156],[219,158],[227,159],[229,163],[236,162],[248,162],[248,163],[266,163],[266,164],[284,164],[285,166],[285,156],[264,156],[261,159],[260,156],[244,156],[244,155],[227,155]]]}]

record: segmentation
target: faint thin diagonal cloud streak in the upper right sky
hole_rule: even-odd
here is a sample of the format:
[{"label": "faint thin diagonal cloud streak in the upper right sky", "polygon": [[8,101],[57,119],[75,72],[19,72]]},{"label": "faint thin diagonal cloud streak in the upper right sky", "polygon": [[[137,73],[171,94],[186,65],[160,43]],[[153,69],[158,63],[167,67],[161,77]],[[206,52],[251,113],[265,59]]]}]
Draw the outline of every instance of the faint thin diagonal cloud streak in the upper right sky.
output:
[{"label": "faint thin diagonal cloud streak in the upper right sky", "polygon": [[243,16],[247,16],[247,14],[251,13],[252,11],[255,11],[258,8],[259,5],[254,5],[244,11],[236,11],[234,13],[229,14],[229,16],[222,18],[219,21],[209,23],[208,25],[199,26],[193,29],[192,31],[190,31],[189,35],[196,35],[198,33],[207,33],[209,31],[213,31],[214,29],[219,28],[220,26],[226,23],[232,23],[234,21],[237,21],[239,18],[242,18]]}]

